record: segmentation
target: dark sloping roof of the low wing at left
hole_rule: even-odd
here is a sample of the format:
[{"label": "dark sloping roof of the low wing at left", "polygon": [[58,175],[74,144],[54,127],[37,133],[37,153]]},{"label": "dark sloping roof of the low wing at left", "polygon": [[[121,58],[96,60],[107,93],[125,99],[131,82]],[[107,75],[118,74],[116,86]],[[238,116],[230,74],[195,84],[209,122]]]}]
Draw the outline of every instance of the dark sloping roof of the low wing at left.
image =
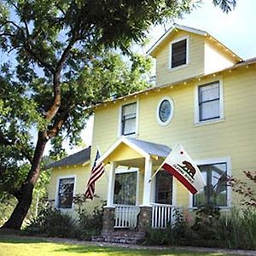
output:
[{"label": "dark sloping roof of the low wing at left", "polygon": [[78,153],[71,154],[61,160],[58,160],[48,166],[45,166],[46,169],[61,167],[61,166],[73,166],[73,165],[83,165],[84,163],[90,160],[90,148],[85,148]]}]

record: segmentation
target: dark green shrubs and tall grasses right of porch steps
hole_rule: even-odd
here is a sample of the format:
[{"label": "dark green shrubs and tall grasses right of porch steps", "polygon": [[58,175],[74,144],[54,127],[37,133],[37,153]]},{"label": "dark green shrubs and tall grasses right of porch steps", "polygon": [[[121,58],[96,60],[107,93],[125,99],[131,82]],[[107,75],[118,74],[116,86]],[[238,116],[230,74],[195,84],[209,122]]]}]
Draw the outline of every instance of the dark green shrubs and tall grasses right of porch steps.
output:
[{"label": "dark green shrubs and tall grasses right of porch steps", "polygon": [[251,208],[229,214],[206,206],[196,210],[195,224],[189,224],[183,212],[175,211],[174,223],[165,230],[148,229],[144,243],[199,247],[256,248],[256,211]]}]

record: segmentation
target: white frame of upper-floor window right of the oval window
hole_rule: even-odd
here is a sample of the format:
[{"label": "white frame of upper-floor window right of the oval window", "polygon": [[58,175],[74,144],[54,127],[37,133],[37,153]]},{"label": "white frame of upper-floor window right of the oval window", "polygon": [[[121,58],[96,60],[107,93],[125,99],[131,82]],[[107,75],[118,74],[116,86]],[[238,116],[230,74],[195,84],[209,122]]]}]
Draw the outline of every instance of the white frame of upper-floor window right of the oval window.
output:
[{"label": "white frame of upper-floor window right of the oval window", "polygon": [[[209,119],[205,121],[200,120],[200,109],[199,109],[199,87],[205,86],[207,84],[212,84],[214,82],[218,82],[219,84],[219,118],[216,119]],[[224,86],[223,86],[223,80],[221,78],[215,78],[208,80],[206,82],[202,82],[200,84],[197,84],[195,86],[195,125],[204,125],[204,124],[211,124],[216,123],[219,121],[224,120]]]}]

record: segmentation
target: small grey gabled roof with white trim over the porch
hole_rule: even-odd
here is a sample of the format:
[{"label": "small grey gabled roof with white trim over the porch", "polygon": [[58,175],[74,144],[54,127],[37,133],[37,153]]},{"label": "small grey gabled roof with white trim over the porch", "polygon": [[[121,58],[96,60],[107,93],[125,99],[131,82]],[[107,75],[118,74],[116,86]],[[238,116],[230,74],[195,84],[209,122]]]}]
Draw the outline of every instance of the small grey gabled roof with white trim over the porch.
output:
[{"label": "small grey gabled roof with white trim over the porch", "polygon": [[129,138],[129,137],[120,137],[113,145],[108,148],[101,158],[98,159],[99,162],[104,161],[108,158],[113,151],[119,147],[121,143],[124,143],[128,147],[135,150],[138,154],[141,154],[143,157],[148,157],[150,155],[166,157],[170,152],[171,148],[163,144],[149,143],[146,141]]}]

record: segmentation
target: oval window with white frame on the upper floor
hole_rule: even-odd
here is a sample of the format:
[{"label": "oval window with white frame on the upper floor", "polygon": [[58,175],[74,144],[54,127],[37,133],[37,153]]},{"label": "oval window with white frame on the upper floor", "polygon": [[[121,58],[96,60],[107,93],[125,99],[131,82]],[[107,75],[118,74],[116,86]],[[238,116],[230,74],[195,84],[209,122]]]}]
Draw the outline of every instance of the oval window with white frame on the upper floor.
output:
[{"label": "oval window with white frame on the upper floor", "polygon": [[173,115],[173,102],[171,98],[164,98],[157,108],[157,119],[160,125],[168,125]]}]

